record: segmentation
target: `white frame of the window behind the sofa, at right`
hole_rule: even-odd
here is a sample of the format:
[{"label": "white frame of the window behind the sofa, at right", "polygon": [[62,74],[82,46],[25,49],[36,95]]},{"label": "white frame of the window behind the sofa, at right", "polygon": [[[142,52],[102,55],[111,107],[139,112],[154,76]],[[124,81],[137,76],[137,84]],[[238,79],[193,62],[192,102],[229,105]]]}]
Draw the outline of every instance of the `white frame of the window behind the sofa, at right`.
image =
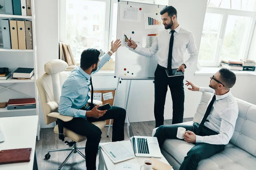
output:
[{"label": "white frame of the window behind the sofa, at right", "polygon": [[229,15],[236,15],[236,16],[244,16],[244,17],[253,17],[251,26],[250,26],[250,33],[248,35],[248,40],[247,40],[247,46],[245,49],[241,52],[241,56],[243,56],[243,59],[247,59],[249,49],[250,49],[250,43],[253,37],[253,31],[255,28],[256,24],[256,12],[253,11],[240,11],[240,10],[234,10],[234,9],[226,9],[226,8],[214,8],[214,7],[207,7],[206,13],[214,13],[214,14],[222,14],[222,21],[221,21],[221,28],[217,40],[217,45],[215,49],[215,54],[214,54],[214,61],[213,62],[201,62],[200,65],[203,67],[217,67],[219,65],[220,61],[220,51],[223,43],[223,38],[225,35],[226,31],[226,26],[227,26],[227,19]]}]

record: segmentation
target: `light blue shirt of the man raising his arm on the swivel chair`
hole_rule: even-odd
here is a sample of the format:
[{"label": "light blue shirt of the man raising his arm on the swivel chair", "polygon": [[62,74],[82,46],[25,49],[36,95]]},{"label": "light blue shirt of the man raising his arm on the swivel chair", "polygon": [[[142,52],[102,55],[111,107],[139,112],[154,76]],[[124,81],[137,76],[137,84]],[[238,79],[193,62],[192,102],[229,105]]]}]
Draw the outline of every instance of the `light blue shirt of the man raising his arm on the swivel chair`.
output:
[{"label": "light blue shirt of the man raising his arm on the swivel chair", "polygon": [[[111,57],[108,53],[100,57],[96,71],[99,71]],[[87,104],[90,96],[90,75],[77,66],[62,85],[58,112],[64,116],[85,117],[86,111],[79,110]]]}]

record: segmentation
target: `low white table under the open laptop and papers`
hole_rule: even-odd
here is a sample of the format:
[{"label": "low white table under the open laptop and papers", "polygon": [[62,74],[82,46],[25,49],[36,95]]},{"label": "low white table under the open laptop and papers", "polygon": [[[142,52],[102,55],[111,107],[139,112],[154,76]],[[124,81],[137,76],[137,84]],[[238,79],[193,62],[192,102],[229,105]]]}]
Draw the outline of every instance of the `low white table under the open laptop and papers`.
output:
[{"label": "low white table under the open laptop and papers", "polygon": [[[121,141],[122,144],[126,147],[126,146],[130,146],[131,145],[131,142],[130,141]],[[110,142],[108,142],[110,143]],[[108,144],[108,143],[100,143],[100,145],[102,144]],[[128,147],[127,147],[128,148]],[[133,152],[133,150],[131,150],[131,152]],[[113,162],[108,158],[108,156],[105,154],[105,152],[100,149],[99,150],[99,170],[104,170],[104,167],[106,170],[115,170],[115,167],[117,164],[123,164],[123,162],[127,162],[127,163],[138,163],[141,165],[144,164],[144,161],[146,159],[150,159],[148,157],[136,157],[133,158],[133,159],[129,159],[127,161],[122,161],[122,162],[119,162],[119,163],[116,163],[116,164],[113,164]],[[168,161],[165,159],[164,156],[162,156],[162,158],[157,158],[159,159],[160,161],[163,161],[164,163],[166,164],[169,164]],[[172,169],[173,170],[173,169]]]}]

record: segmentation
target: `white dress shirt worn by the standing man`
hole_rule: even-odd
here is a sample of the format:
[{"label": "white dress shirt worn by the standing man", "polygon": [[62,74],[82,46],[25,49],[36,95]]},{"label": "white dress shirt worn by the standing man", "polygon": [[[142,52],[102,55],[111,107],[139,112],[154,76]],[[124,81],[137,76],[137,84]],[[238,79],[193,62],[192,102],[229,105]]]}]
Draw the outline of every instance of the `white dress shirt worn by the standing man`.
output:
[{"label": "white dress shirt worn by the standing man", "polygon": [[[154,39],[150,48],[143,48],[137,46],[135,50],[138,54],[145,57],[152,57],[158,51],[158,64],[162,67],[167,68],[168,65],[168,54],[169,54],[169,43],[171,38],[171,29],[163,30]],[[184,62],[184,55],[188,49],[190,54],[189,59]],[[172,48],[172,68],[179,68],[180,65],[185,64],[189,67],[192,63],[198,59],[198,51],[195,46],[194,35],[191,31],[178,26],[174,32],[174,41]]]}]

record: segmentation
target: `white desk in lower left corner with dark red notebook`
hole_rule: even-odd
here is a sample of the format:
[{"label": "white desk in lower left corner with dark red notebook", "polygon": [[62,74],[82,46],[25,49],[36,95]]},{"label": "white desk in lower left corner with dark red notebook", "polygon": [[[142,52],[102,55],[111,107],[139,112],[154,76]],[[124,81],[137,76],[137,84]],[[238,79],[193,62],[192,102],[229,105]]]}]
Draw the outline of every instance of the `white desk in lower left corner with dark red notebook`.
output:
[{"label": "white desk in lower left corner with dark red notebook", "polygon": [[35,156],[38,116],[3,117],[0,118],[0,127],[6,139],[5,142],[0,143],[0,150],[32,148],[29,162],[2,164],[0,170],[38,169]]}]

